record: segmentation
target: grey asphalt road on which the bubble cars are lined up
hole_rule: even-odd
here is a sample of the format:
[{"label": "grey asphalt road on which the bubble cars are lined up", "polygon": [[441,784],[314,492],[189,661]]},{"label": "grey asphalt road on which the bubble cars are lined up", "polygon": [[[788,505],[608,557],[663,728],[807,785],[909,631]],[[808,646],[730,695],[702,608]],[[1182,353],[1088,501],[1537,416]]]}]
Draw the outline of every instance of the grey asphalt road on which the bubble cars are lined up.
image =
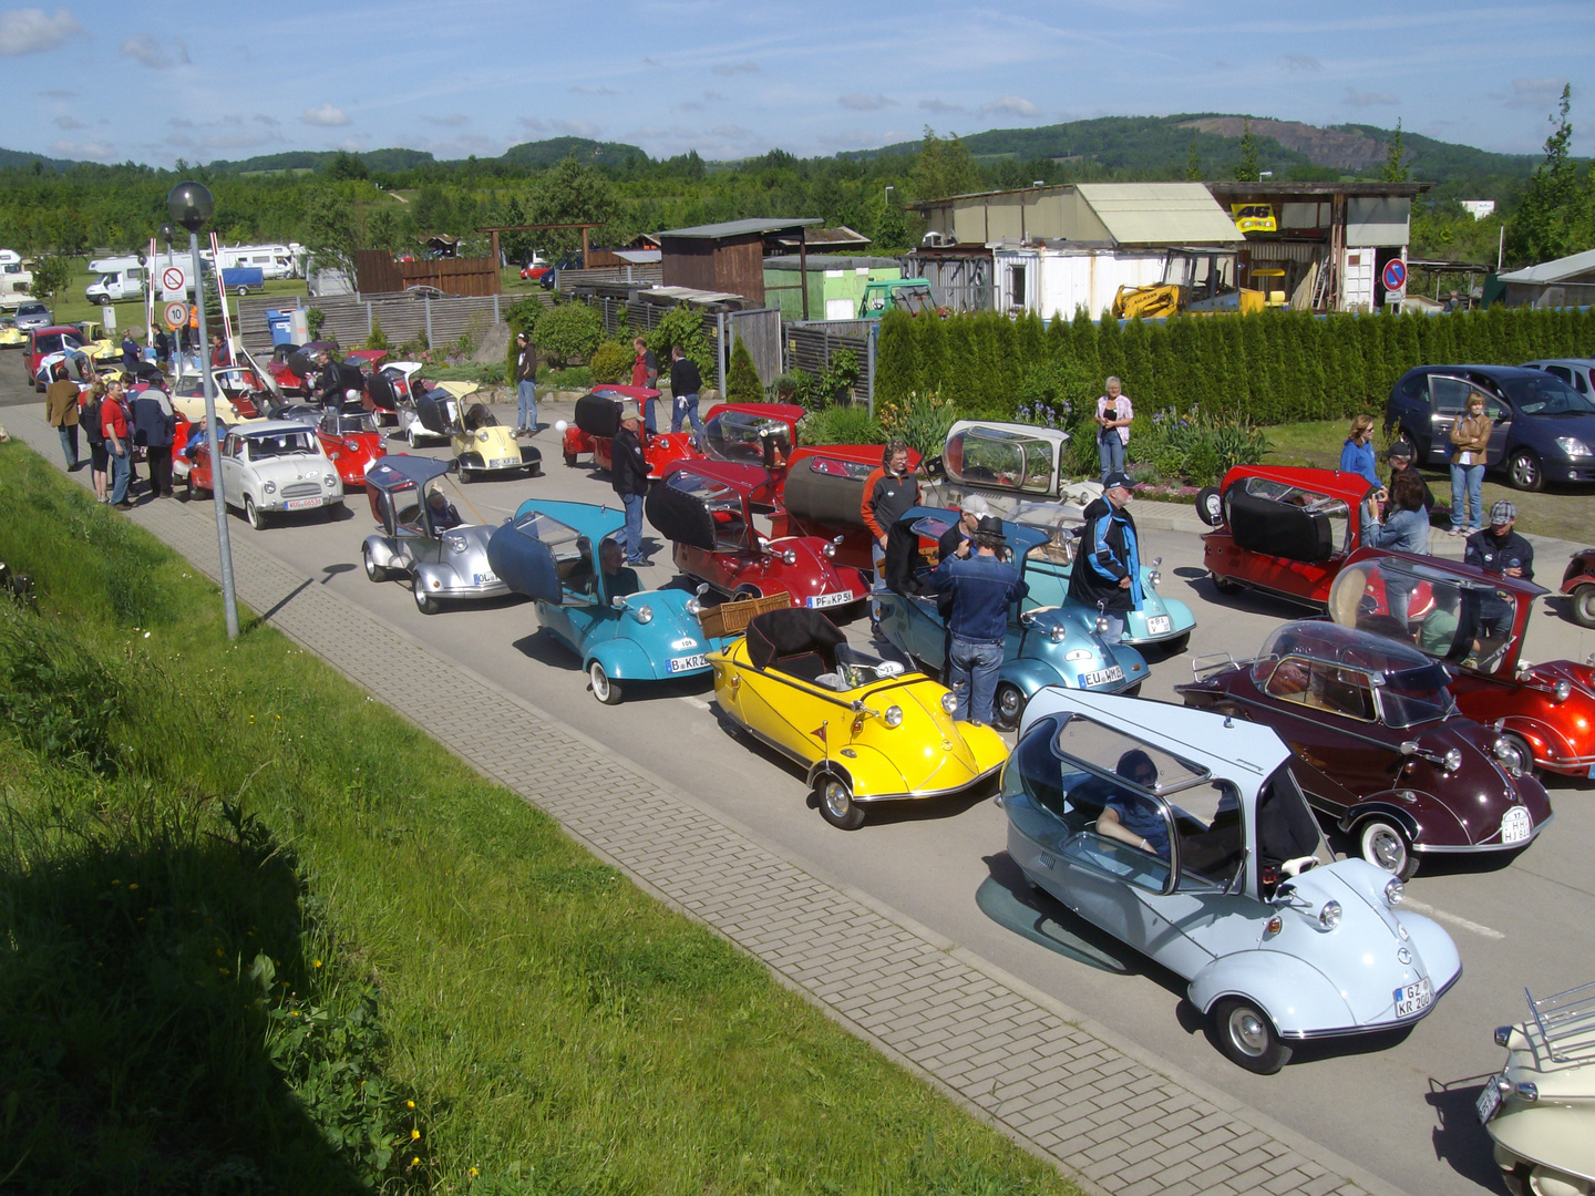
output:
[{"label": "grey asphalt road on which the bubble cars are lined up", "polygon": [[[18,389],[21,370],[8,365],[0,362],[0,407],[27,403],[32,395]],[[13,407],[5,423],[13,434],[26,431],[35,443],[54,450],[49,429],[40,435],[41,410],[41,402]],[[553,415],[542,411],[544,421]],[[24,423],[32,427],[24,429]],[[531,496],[614,501],[606,477],[563,466],[553,429],[545,427],[533,443],[544,451],[545,477],[456,485],[451,498],[466,518],[499,521]],[[404,450],[399,440],[391,447]],[[86,470],[75,477],[88,480]],[[1408,1193],[1502,1190],[1472,1099],[1502,1059],[1491,1029],[1523,1017],[1525,986],[1549,993],[1595,979],[1590,781],[1550,781],[1555,823],[1515,860],[1424,861],[1408,885],[1410,904],[1442,920],[1464,963],[1461,981],[1428,1019],[1400,1038],[1298,1049],[1282,1073],[1254,1076],[1228,1064],[1207,1041],[1199,1016],[1183,1001],[1179,978],[1097,934],[1062,907],[1035,904],[1005,853],[1003,813],[989,801],[879,810],[857,832],[836,831],[807,805],[799,775],[723,726],[711,690],[633,690],[624,705],[601,706],[587,692],[579,662],[539,635],[530,604],[504,601],[427,617],[402,584],[368,582],[360,544],[372,531],[372,518],[362,493],[351,493],[346,504],[349,515],[337,523],[317,517],[257,533],[234,518],[231,531],[404,627],[439,657],[477,670],[740,820],[817,875],[903,911]],[[1249,655],[1281,619],[1297,614],[1271,600],[1215,595],[1199,568],[1201,542],[1195,534],[1145,529],[1142,539],[1144,557],[1164,558],[1161,590],[1190,603],[1198,617],[1185,654],[1153,657],[1145,697],[1174,700],[1172,687],[1191,675],[1193,654]],[[644,585],[670,579],[668,553],[659,552],[657,561],[644,571]],[[1546,560],[1541,572],[1560,576],[1560,568],[1562,561]],[[849,633],[868,638],[868,624],[858,620]],[[1530,628],[1528,659],[1582,660],[1592,651],[1595,631],[1562,619],[1549,601],[1541,603]]]}]

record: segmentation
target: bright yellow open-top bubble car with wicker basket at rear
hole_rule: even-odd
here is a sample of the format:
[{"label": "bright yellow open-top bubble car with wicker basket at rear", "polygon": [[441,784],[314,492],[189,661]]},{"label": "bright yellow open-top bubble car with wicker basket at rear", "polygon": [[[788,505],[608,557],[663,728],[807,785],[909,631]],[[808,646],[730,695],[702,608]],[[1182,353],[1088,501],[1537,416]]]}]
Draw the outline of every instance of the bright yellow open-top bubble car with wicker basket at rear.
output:
[{"label": "bright yellow open-top bubble car with wicker basket at rear", "polygon": [[844,831],[869,804],[960,793],[1008,759],[995,730],[954,721],[949,689],[850,647],[821,611],[756,616],[708,660],[721,710],[801,764],[820,815]]}]

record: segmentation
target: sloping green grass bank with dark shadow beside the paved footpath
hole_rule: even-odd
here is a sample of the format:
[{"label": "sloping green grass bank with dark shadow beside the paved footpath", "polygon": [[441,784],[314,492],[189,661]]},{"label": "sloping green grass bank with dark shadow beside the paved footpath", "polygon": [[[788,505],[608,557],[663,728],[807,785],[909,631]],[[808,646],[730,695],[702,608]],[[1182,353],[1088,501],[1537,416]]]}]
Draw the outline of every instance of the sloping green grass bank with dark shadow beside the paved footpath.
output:
[{"label": "sloping green grass bank with dark shadow beside the paved footpath", "polygon": [[0,1177],[1062,1193],[0,445]]}]

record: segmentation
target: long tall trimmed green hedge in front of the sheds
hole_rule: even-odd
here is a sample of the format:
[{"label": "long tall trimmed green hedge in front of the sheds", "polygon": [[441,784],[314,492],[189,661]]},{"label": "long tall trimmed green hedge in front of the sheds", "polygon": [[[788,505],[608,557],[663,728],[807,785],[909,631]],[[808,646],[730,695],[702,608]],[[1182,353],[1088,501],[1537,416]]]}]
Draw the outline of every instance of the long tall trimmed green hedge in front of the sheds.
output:
[{"label": "long tall trimmed green hedge in front of the sheds", "polygon": [[[1139,411],[1174,407],[1246,415],[1262,424],[1381,411],[1415,365],[1517,365],[1581,357],[1595,346],[1595,308],[1493,306],[1453,316],[1176,316],[1097,324],[1085,309],[1053,316],[997,313],[880,324],[879,397],[936,392],[963,411],[992,411],[1046,367],[1073,378],[1116,373]],[[1096,391],[1097,394],[1101,391]]]}]

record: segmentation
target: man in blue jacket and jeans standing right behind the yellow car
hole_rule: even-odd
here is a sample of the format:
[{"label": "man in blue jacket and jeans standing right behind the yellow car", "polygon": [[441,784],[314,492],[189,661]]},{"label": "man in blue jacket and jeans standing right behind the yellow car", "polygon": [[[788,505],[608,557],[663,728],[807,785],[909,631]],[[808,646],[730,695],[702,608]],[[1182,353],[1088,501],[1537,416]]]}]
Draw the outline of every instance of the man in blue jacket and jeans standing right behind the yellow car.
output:
[{"label": "man in blue jacket and jeans standing right behind the yellow car", "polygon": [[1008,608],[1030,592],[1018,571],[998,558],[1005,547],[1002,520],[986,515],[957,555],[931,574],[931,587],[951,606],[949,686],[959,695],[952,718],[978,726],[992,721],[997,671],[1006,654]]}]

